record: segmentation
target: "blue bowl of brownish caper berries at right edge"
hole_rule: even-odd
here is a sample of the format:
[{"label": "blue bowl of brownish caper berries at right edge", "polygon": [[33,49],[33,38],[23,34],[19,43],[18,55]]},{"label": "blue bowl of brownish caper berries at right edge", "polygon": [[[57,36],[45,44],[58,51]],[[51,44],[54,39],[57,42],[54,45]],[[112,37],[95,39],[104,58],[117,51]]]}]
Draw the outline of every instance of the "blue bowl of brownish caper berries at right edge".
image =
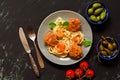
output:
[{"label": "blue bowl of brownish caper berries at right edge", "polygon": [[113,61],[117,58],[119,50],[120,45],[116,39],[102,36],[96,47],[98,61]]}]

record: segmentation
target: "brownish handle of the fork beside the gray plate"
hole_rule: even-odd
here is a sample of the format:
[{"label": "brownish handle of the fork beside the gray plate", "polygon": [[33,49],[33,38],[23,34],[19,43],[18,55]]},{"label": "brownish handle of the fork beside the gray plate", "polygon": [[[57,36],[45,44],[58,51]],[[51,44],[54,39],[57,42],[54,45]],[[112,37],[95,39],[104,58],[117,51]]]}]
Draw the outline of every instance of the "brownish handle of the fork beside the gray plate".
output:
[{"label": "brownish handle of the fork beside the gray plate", "polygon": [[44,62],[43,62],[43,59],[42,59],[42,57],[40,55],[40,52],[39,52],[39,50],[37,48],[37,45],[36,45],[35,41],[34,41],[34,46],[35,46],[35,51],[36,51],[36,55],[37,55],[39,66],[41,68],[44,68],[45,67]]}]

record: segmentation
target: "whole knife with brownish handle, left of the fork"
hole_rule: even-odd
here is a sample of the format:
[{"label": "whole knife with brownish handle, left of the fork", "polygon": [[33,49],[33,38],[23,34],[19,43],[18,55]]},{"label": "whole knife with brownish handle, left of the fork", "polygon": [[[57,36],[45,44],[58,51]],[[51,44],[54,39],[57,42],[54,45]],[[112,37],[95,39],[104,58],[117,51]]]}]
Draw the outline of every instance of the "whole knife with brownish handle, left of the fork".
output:
[{"label": "whole knife with brownish handle, left of the fork", "polygon": [[33,70],[35,72],[35,75],[37,77],[39,77],[40,74],[39,74],[38,67],[37,67],[37,65],[35,63],[35,60],[34,60],[33,56],[31,55],[31,49],[30,49],[30,47],[28,45],[28,42],[27,42],[27,39],[26,39],[26,36],[25,36],[25,33],[24,33],[22,27],[19,28],[19,37],[20,37],[20,40],[22,42],[22,45],[23,45],[26,53],[28,53],[28,55],[29,55],[29,58],[30,58],[30,61],[31,61],[31,64],[32,64],[32,68],[33,68]]}]

